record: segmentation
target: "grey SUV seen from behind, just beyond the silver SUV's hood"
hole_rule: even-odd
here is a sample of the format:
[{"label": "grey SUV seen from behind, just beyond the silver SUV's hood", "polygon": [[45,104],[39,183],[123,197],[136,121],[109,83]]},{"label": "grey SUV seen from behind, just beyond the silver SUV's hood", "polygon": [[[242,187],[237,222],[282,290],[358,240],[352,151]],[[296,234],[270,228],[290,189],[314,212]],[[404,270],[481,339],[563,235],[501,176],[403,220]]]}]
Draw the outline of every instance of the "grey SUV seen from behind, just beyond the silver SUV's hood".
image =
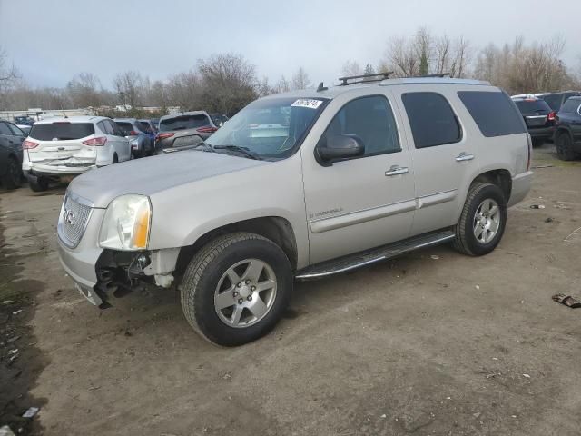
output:
[{"label": "grey SUV seen from behind, just beyond the silver SUV's hood", "polygon": [[218,126],[205,111],[162,116],[160,131],[155,138],[155,153],[198,146],[217,130]]}]

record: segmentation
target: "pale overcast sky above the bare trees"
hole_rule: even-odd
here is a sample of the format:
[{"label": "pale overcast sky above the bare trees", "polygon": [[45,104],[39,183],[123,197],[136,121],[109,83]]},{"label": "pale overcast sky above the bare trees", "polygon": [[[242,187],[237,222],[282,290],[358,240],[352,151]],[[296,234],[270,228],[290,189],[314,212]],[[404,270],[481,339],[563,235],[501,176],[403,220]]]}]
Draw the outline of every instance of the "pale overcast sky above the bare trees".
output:
[{"label": "pale overcast sky above the bare trees", "polygon": [[581,0],[0,0],[0,45],[34,86],[83,71],[107,88],[126,70],[163,79],[226,52],[272,83],[300,65],[313,83],[332,81],[346,60],[377,64],[389,36],[421,25],[475,48],[562,35],[566,63],[581,56]]}]

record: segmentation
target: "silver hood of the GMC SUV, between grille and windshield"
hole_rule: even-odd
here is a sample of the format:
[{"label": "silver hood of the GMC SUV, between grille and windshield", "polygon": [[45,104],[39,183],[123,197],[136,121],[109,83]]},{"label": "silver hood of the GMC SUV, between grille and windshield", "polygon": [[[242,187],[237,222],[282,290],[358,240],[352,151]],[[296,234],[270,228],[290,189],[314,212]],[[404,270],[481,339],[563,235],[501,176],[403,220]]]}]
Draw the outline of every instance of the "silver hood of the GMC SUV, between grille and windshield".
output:
[{"label": "silver hood of the GMC SUV, between grille and windshield", "polygon": [[76,177],[68,191],[105,208],[126,193],[152,195],[173,186],[268,164],[229,154],[184,151],[161,154],[90,170]]}]

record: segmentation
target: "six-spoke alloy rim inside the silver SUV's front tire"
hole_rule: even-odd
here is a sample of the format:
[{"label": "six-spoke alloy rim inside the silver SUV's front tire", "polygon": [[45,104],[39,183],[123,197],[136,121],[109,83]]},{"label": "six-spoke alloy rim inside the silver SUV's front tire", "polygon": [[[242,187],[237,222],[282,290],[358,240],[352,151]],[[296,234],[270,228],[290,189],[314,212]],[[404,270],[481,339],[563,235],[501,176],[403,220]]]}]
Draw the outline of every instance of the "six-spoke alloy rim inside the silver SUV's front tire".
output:
[{"label": "six-spoke alloy rim inside the silver SUV's front tire", "polygon": [[226,325],[250,327],[271,312],[276,288],[276,275],[268,263],[245,259],[222,274],[214,292],[214,308]]}]

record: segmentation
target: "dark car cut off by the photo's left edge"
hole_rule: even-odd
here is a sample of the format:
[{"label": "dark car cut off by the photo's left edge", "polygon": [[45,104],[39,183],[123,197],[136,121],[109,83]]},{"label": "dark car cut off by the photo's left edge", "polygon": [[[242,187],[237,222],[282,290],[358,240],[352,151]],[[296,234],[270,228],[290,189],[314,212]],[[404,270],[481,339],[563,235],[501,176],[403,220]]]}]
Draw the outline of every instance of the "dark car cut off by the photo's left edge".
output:
[{"label": "dark car cut off by the photo's left edge", "polygon": [[15,124],[0,121],[0,181],[5,189],[20,186],[22,174],[22,143],[26,134]]}]

